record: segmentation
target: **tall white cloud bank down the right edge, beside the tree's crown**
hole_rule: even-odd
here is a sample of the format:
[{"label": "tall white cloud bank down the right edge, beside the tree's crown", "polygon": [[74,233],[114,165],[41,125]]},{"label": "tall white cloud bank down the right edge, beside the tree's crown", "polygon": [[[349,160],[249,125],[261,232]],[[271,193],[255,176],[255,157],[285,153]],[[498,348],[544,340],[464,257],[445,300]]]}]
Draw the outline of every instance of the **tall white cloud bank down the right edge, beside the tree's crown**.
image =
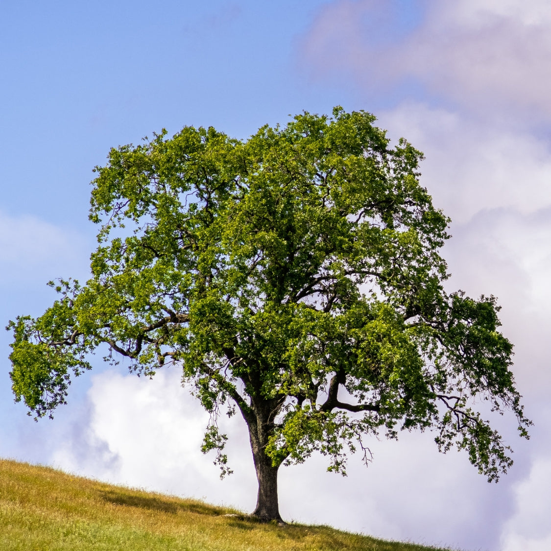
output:
[{"label": "tall white cloud bank down the right edge, beside the tree's crown", "polygon": [[515,343],[523,392],[551,385],[551,151],[528,133],[406,103],[383,113],[393,138],[407,137],[426,159],[420,182],[452,218],[442,253],[449,289],[494,294]]}]

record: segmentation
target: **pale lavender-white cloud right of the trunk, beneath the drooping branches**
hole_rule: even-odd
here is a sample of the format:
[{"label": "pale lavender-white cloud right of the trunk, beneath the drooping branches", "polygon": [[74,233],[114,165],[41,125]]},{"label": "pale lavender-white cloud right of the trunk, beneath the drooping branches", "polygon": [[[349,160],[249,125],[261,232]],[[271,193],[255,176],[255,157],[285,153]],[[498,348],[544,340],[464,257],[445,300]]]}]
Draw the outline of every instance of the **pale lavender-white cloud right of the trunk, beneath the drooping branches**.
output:
[{"label": "pale lavender-white cloud right of the trunk, beneath the drooping branches", "polygon": [[[464,454],[439,454],[433,437],[404,433],[398,442],[372,441],[374,461],[366,469],[359,457],[350,457],[344,479],[326,473],[321,458],[282,471],[285,512],[388,539],[493,547],[499,533],[494,519],[509,513],[507,480],[490,486]],[[302,504],[297,496],[309,500]]]}]

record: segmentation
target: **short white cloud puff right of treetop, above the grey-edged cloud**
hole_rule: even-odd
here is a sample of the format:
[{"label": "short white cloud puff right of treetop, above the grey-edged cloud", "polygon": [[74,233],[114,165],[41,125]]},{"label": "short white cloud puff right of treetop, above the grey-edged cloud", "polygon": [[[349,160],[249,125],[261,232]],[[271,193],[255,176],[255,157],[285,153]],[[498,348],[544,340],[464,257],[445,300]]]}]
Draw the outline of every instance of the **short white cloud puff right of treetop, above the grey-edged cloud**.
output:
[{"label": "short white cloud puff right of treetop, above the grey-edged cloud", "polygon": [[551,205],[551,149],[542,139],[414,102],[379,119],[392,138],[425,153],[422,185],[453,222],[484,209],[527,214]]}]

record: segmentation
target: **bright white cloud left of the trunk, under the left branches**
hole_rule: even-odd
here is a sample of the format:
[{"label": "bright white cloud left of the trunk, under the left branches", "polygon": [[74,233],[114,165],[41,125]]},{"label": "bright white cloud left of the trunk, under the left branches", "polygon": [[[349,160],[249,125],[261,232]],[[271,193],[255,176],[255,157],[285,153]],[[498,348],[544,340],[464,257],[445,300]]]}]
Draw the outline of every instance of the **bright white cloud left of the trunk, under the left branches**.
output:
[{"label": "bright white cloud left of the trunk, under the left branches", "polygon": [[[161,370],[153,380],[109,370],[92,377],[89,418],[79,420],[84,437],[60,446],[53,463],[114,483],[252,509],[255,472],[244,424],[231,422],[228,449],[236,473],[228,484],[220,481],[213,457],[199,451],[209,416],[180,378],[177,369]],[[221,428],[227,424],[220,419]]]}]

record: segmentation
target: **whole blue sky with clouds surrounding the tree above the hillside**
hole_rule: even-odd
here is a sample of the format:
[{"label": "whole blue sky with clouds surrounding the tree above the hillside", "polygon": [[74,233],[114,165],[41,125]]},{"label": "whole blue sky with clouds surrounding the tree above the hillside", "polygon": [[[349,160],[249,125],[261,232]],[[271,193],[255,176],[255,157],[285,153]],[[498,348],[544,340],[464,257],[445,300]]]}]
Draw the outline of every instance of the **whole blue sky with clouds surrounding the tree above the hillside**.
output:
[{"label": "whole blue sky with clouds surrounding the tree above the hillside", "polygon": [[[165,127],[246,138],[334,105],[374,112],[426,160],[452,218],[450,288],[498,296],[515,376],[536,425],[503,430],[515,466],[489,485],[430,434],[374,442],[366,471],[313,458],[281,473],[282,514],[464,549],[549,549],[551,456],[551,7],[543,0],[12,2],[0,0],[0,286],[4,323],[39,315],[45,283],[86,279],[96,228],[91,170],[113,146]],[[55,420],[13,404],[0,337],[0,456],[252,509],[244,427],[224,482],[199,452],[204,414],[175,371],[106,369],[72,387]]]}]

